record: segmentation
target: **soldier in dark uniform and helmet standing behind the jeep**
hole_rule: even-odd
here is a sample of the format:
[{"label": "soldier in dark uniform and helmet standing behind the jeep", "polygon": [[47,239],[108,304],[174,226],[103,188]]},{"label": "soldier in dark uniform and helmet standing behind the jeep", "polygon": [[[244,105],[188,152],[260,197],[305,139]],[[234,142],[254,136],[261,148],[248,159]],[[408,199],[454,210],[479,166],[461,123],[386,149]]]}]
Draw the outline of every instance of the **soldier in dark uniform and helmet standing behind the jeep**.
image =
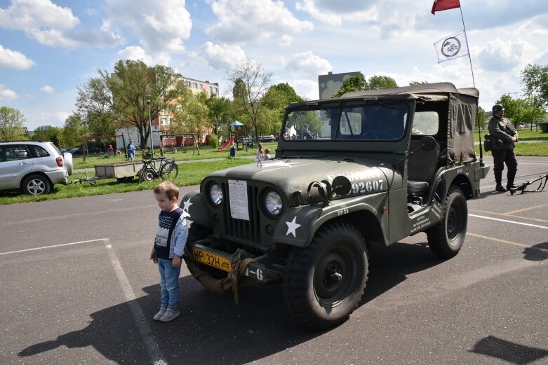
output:
[{"label": "soldier in dark uniform and helmet standing behind the jeep", "polygon": [[[495,190],[504,192],[515,188],[514,177],[518,171],[518,161],[514,153],[514,144],[518,142],[518,132],[508,118],[504,118],[504,106],[493,105],[493,118],[489,120],[489,134],[491,135],[491,153],[493,153],[493,172],[495,173]],[[502,170],[504,163],[507,167],[506,188],[502,186]]]}]

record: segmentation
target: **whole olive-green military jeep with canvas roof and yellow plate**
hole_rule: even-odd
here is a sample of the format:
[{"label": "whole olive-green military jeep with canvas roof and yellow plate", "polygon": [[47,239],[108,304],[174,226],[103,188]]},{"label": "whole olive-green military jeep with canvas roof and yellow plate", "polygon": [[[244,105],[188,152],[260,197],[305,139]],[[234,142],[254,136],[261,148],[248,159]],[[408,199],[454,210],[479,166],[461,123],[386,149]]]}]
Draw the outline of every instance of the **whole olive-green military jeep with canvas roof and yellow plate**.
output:
[{"label": "whole olive-green military jeep with canvas roof and yellow plate", "polygon": [[189,262],[226,277],[250,259],[243,275],[281,282],[295,320],[340,324],[371,243],[425,232],[439,258],[459,252],[488,172],[474,152],[478,97],[432,83],[290,104],[273,160],[214,172],[182,198]]}]

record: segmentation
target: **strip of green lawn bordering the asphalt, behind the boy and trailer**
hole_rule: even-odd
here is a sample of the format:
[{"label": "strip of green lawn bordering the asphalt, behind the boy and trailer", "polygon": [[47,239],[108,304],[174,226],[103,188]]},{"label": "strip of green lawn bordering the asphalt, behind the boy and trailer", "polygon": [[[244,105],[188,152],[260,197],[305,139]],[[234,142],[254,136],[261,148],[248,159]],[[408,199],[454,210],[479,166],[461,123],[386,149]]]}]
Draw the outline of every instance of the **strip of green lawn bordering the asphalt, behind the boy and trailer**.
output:
[{"label": "strip of green lawn bordering the asphalt, behind the boy and trailer", "polygon": [[[114,158],[112,158],[114,160]],[[179,176],[173,179],[173,182],[178,186],[188,186],[200,184],[202,179],[211,172],[254,163],[249,158],[225,158],[224,160],[202,161],[196,163],[185,163],[179,165]],[[84,174],[72,174],[70,180],[79,179]],[[93,176],[93,172],[88,174]],[[125,193],[127,191],[152,190],[154,186],[161,182],[160,179],[138,184],[138,178],[135,177],[131,182],[118,182],[116,179],[97,180],[95,186],[91,186],[87,182],[82,184],[62,185],[57,184],[53,188],[53,192],[45,195],[25,195],[19,191],[2,192],[0,193],[0,205],[14,204],[18,202],[39,202],[41,200],[54,200],[64,198],[74,198],[77,196],[102,195],[112,193]]]}]

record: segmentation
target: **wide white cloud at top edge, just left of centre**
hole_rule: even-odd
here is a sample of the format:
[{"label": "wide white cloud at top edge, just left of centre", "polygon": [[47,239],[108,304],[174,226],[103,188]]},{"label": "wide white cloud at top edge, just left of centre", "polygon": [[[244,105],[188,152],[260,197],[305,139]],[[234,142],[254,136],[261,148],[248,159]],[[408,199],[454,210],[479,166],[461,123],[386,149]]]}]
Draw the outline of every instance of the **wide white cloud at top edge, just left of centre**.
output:
[{"label": "wide white cloud at top edge, just left of centre", "polygon": [[272,34],[310,32],[312,22],[302,21],[286,8],[282,1],[273,0],[210,0],[219,22],[206,29],[206,34],[231,43],[267,39]]}]

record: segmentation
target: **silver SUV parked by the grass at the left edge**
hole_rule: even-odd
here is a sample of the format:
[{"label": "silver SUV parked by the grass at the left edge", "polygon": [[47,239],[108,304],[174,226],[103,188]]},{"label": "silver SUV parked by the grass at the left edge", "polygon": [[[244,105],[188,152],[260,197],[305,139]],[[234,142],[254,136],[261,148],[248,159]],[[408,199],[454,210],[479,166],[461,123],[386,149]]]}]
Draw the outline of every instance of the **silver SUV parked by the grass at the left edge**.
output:
[{"label": "silver SUV parked by the grass at the left edge", "polygon": [[0,142],[0,190],[47,194],[55,184],[69,184],[72,154],[52,142]]}]

